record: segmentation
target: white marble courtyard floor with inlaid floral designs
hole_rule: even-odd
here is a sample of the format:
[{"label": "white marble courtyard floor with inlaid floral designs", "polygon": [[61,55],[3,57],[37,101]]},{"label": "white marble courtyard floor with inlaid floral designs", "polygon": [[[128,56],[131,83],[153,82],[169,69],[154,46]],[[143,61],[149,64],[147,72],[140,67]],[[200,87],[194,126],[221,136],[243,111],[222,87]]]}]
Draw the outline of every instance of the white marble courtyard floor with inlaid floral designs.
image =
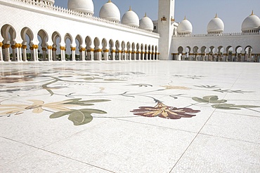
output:
[{"label": "white marble courtyard floor with inlaid floral designs", "polygon": [[0,172],[260,172],[260,64],[0,64]]}]

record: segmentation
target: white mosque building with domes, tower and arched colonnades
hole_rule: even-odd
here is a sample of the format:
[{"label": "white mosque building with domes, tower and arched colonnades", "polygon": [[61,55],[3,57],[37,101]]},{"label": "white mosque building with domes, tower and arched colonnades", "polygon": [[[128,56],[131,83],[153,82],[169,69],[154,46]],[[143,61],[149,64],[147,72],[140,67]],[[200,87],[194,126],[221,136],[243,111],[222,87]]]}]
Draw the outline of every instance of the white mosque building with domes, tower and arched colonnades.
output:
[{"label": "white mosque building with domes, tower and arched colonnades", "polygon": [[[159,0],[158,20],[124,15],[112,1],[99,17],[92,0],[1,0],[0,62],[193,60],[260,62],[260,19],[253,12],[240,33],[224,33],[215,16],[207,34],[193,34],[188,18],[174,20],[174,0]],[[121,18],[122,16],[122,18]]]}]

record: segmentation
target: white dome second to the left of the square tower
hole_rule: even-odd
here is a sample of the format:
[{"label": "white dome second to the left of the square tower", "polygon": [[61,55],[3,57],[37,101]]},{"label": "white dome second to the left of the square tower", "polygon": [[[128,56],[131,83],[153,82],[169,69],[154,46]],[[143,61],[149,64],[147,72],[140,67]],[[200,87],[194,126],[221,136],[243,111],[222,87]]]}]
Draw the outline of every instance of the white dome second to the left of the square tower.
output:
[{"label": "white dome second to the left of the square tower", "polygon": [[139,18],[138,15],[129,8],[129,11],[126,11],[122,17],[122,24],[129,25],[131,27],[139,27]]}]

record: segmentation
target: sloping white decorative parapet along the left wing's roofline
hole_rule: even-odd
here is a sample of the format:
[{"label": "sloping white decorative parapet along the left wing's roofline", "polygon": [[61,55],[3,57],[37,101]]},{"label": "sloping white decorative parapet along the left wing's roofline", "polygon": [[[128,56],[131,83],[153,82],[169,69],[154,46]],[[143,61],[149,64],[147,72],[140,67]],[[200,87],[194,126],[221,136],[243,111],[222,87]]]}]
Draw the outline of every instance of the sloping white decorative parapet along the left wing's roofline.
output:
[{"label": "sloping white decorative parapet along the left wing's roofline", "polygon": [[124,28],[127,28],[127,29],[132,29],[132,30],[136,30],[136,31],[139,31],[139,32],[145,32],[145,33],[148,33],[148,34],[155,34],[155,35],[159,36],[159,34],[157,34],[155,32],[149,32],[149,31],[146,31],[144,29],[139,29],[139,28],[136,28],[136,27],[130,27],[128,25],[123,25],[119,22],[114,22],[114,21],[111,21],[111,20],[98,18],[98,17],[90,15],[88,13],[82,13],[82,12],[79,12],[79,11],[72,11],[70,9],[63,8],[63,7],[60,7],[60,6],[52,6],[51,4],[49,4],[45,1],[35,1],[35,0],[11,0],[11,1],[15,1],[15,2],[18,2],[18,3],[22,3],[22,4],[27,4],[29,6],[35,6],[35,7],[38,7],[38,8],[43,8],[46,11],[54,11],[54,12],[58,12],[58,13],[62,13],[62,14],[72,15],[76,18],[83,18],[83,19],[87,19],[87,20],[103,22],[103,23],[107,23],[107,24],[110,24],[110,25],[115,25],[117,27],[124,27]]}]

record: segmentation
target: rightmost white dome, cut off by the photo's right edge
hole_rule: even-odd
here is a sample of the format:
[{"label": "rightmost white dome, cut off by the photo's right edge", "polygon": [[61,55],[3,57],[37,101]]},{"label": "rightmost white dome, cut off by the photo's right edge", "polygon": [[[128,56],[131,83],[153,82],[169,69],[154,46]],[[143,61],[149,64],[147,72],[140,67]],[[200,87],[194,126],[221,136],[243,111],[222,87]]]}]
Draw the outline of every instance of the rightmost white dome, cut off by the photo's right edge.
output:
[{"label": "rightmost white dome, cut off by the photo's right edge", "polygon": [[254,15],[252,11],[252,14],[242,22],[242,32],[259,32],[259,28],[260,19],[257,15]]}]

